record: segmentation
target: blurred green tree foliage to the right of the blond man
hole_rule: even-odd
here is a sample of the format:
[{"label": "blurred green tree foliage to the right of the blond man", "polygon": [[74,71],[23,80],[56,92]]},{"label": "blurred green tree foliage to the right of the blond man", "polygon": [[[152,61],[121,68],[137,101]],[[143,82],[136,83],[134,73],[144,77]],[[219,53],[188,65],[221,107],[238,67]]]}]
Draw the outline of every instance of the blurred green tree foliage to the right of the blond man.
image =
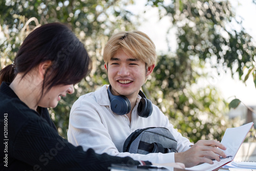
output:
[{"label": "blurred green tree foliage to the right of the blond man", "polygon": [[[165,103],[160,100],[158,105],[162,108],[169,106],[166,113],[175,118],[177,128],[187,133],[190,140],[197,141],[201,137],[221,140],[225,127],[238,126],[224,118],[226,102],[211,85],[193,91],[191,88],[194,84],[200,87],[199,78],[208,76],[203,72],[206,61],[217,69],[230,69],[232,75],[238,73],[240,79],[244,75],[244,81],[253,74],[255,82],[255,44],[228,1],[168,2],[148,0],[147,6],[158,8],[160,19],[169,18],[172,23],[169,30],[175,28],[178,46],[175,54],[160,56],[156,75],[152,75],[156,81],[146,85],[153,90],[151,95],[155,90],[162,92],[162,98],[155,94],[155,101],[168,100]],[[255,136],[252,138],[255,140]]]}]

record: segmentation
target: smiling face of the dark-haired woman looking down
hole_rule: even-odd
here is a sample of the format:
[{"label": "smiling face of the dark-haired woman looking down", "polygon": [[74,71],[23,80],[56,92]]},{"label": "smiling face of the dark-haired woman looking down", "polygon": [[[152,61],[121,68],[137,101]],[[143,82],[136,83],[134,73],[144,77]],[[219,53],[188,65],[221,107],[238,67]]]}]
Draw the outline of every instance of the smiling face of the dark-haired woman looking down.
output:
[{"label": "smiling face of the dark-haired woman looking down", "polygon": [[73,84],[54,86],[40,99],[38,106],[43,108],[55,108],[61,96],[65,97],[67,93],[74,93]]}]

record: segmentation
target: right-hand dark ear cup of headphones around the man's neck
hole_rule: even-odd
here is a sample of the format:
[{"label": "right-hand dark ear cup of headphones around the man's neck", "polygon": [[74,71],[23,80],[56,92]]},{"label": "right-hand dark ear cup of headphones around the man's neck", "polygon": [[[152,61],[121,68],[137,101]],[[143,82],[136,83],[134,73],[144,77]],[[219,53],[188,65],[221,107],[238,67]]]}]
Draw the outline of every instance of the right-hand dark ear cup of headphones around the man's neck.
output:
[{"label": "right-hand dark ear cup of headphones around the man's neck", "polygon": [[153,112],[152,102],[146,98],[141,98],[138,104],[138,115],[147,118]]}]

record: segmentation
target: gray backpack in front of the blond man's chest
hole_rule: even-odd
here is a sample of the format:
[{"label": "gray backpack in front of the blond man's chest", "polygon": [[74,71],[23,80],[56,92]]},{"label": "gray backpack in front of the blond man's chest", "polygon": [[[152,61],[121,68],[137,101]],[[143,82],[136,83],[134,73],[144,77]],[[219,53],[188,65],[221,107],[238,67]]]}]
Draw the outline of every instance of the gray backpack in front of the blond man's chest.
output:
[{"label": "gray backpack in front of the blond man's chest", "polygon": [[165,127],[147,127],[133,132],[123,144],[123,152],[148,154],[177,151],[177,141]]}]

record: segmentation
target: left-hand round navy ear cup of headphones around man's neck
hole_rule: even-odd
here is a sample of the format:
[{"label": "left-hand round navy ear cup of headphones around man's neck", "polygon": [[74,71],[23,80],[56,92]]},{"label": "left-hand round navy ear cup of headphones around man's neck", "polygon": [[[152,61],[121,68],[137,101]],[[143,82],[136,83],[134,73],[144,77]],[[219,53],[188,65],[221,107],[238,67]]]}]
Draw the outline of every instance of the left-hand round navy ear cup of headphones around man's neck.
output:
[{"label": "left-hand round navy ear cup of headphones around man's neck", "polygon": [[111,110],[117,115],[125,115],[131,111],[131,102],[125,96],[115,96],[111,99]]}]

